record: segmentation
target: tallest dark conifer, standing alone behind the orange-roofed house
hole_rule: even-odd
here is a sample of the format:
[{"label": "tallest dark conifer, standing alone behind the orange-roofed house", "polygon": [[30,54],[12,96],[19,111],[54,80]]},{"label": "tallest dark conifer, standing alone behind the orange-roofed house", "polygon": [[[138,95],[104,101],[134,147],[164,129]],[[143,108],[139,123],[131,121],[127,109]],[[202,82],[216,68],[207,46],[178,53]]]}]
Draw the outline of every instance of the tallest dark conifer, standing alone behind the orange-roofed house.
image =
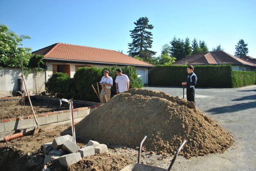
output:
[{"label": "tallest dark conifer, standing alone behind the orange-roofed house", "polygon": [[156,54],[156,52],[149,50],[152,47],[152,33],[148,30],[154,28],[151,24],[148,24],[148,17],[140,17],[134,24],[136,25],[131,30],[132,43],[128,43],[129,55],[138,56],[145,61],[149,61],[150,58]]}]

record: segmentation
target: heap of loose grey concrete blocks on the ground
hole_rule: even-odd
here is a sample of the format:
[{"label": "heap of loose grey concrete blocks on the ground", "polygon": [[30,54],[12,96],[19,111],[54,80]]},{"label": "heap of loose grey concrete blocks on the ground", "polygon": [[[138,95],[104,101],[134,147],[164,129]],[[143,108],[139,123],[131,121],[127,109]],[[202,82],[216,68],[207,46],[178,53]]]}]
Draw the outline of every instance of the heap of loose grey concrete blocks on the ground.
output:
[{"label": "heap of loose grey concrete blocks on the ground", "polygon": [[68,167],[79,162],[82,157],[90,157],[94,154],[108,152],[108,147],[105,144],[99,144],[99,142],[90,140],[85,147],[80,148],[71,139],[72,136],[70,135],[59,136],[53,142],[44,144],[44,165],[58,159],[61,166]]}]

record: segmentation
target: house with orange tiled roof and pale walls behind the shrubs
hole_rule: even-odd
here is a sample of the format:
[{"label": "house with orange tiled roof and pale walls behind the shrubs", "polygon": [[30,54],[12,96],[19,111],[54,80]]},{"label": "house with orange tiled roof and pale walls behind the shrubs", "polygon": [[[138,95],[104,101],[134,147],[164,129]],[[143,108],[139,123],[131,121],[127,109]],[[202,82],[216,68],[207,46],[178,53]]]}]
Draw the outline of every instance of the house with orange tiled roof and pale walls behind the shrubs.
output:
[{"label": "house with orange tiled roof and pale walls behind the shrubs", "polygon": [[93,66],[104,68],[117,65],[134,66],[137,70],[138,77],[142,78],[144,84],[148,84],[148,69],[153,67],[152,64],[140,61],[115,50],[66,43],[55,43],[32,53],[44,55],[43,59],[48,67],[45,81],[55,72],[67,73],[70,78],[73,78],[76,69],[79,67]]}]

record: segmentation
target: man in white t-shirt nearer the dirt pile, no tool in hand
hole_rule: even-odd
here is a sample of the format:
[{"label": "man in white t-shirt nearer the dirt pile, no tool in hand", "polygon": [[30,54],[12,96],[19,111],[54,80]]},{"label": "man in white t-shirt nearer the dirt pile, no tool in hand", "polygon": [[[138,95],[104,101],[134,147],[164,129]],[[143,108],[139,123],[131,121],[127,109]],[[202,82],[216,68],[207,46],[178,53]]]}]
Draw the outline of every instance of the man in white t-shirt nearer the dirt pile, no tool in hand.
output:
[{"label": "man in white t-shirt nearer the dirt pile, no tool in hand", "polygon": [[127,75],[122,74],[122,70],[116,70],[116,94],[122,93],[129,89],[130,80]]}]

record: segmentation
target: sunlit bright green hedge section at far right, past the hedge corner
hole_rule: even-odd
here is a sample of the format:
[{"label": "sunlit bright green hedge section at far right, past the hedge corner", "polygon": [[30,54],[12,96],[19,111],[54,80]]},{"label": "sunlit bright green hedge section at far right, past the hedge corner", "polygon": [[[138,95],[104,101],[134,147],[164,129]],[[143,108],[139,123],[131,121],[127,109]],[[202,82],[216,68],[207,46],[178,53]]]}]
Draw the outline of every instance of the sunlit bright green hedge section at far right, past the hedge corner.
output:
[{"label": "sunlit bright green hedge section at far right, past the hedge corner", "polygon": [[232,87],[242,87],[256,84],[256,73],[246,71],[232,71]]}]

